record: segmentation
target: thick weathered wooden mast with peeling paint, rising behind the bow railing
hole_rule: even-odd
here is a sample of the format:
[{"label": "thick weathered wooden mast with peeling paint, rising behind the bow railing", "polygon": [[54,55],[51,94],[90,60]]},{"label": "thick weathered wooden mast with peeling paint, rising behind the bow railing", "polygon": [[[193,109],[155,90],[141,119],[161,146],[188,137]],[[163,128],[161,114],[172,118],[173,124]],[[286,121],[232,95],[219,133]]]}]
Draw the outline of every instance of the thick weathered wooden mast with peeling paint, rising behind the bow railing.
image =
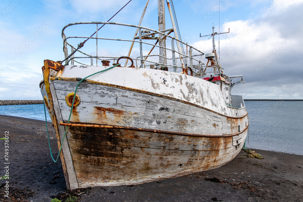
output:
[{"label": "thick weathered wooden mast with peeling paint, rising behind the bow railing", "polygon": [[[164,0],[158,0],[158,23],[159,31],[165,29],[165,7]],[[165,45],[165,36],[159,34],[159,45],[163,48],[159,48],[159,55],[166,57],[166,45]],[[159,63],[166,65],[166,58],[159,57]]]}]

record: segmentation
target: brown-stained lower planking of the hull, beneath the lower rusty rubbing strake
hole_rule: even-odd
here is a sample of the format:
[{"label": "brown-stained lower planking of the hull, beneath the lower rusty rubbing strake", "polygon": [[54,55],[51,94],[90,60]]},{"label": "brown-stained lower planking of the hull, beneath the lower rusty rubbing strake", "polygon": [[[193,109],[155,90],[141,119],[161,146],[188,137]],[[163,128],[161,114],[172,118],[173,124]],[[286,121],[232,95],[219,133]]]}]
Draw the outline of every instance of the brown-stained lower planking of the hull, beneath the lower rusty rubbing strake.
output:
[{"label": "brown-stained lower planking of the hull, beneath the lower rusty rubbing strake", "polygon": [[141,184],[221,167],[239,153],[245,136],[70,127],[68,143],[79,187],[92,187]]}]

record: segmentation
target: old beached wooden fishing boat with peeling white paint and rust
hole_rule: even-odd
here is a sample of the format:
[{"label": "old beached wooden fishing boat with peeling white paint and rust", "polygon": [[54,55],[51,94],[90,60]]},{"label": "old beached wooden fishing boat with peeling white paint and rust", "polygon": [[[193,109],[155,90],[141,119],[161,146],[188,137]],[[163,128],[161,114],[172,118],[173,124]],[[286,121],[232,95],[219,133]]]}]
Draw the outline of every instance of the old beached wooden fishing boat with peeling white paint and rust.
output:
[{"label": "old beached wooden fishing boat with peeling white paint and rust", "polygon": [[[243,75],[223,73],[215,49],[220,33],[213,28],[213,51],[204,54],[181,40],[173,2],[166,4],[172,28],[165,28],[164,0],[158,0],[159,27],[141,26],[147,1],[139,25],[66,25],[65,60],[44,61],[40,88],[68,189],[142,184],[207,171],[230,162],[244,145],[248,114],[242,96],[231,95],[231,88],[245,81]],[[96,32],[67,37],[66,30],[76,26],[95,26]],[[122,38],[106,38],[113,34],[103,33],[103,26],[119,30]],[[124,39],[124,29],[135,36]],[[128,54],[100,55],[98,49],[125,44]]]}]

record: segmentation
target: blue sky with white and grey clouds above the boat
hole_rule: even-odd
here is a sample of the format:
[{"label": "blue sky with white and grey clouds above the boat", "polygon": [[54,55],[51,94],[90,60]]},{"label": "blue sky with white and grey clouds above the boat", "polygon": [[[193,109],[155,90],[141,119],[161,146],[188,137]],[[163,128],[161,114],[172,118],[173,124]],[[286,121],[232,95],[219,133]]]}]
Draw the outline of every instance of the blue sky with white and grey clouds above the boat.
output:
[{"label": "blue sky with white and grey clouds above the boat", "polygon": [[[72,22],[106,22],[127,2],[2,0],[0,100],[42,100],[43,61],[64,59],[62,28]],[[145,4],[145,0],[132,0],[111,21],[138,25]],[[200,34],[211,34],[213,25],[218,33],[229,29],[220,35],[220,45],[218,35],[215,40],[225,75],[244,75],[246,84],[237,84],[233,94],[244,99],[303,99],[303,0],[173,0],[173,4],[182,41],[204,53],[211,52],[212,40]],[[171,28],[165,7],[166,28]],[[156,0],[149,1],[141,25],[158,28]],[[65,33],[90,36],[95,30],[68,27]],[[105,25],[98,37],[131,40],[135,31],[128,31]],[[92,40],[83,50],[95,51]],[[129,48],[128,43],[98,43],[98,55],[125,56]]]}]

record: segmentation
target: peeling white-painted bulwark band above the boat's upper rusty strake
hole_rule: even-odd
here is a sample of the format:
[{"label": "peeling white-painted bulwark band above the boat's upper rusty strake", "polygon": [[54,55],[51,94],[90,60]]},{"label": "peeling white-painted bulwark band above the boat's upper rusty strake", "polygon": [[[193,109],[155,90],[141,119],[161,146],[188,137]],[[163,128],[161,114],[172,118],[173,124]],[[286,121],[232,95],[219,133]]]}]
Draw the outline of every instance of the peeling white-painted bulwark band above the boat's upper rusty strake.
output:
[{"label": "peeling white-painted bulwark band above the boat's upper rusty strake", "polygon": [[[105,69],[103,66],[83,68],[82,65],[75,65],[72,66],[72,69],[70,67],[66,66],[60,76],[84,78]],[[160,72],[163,73],[164,71],[115,67],[88,79],[168,95],[226,116],[233,116],[231,110],[225,104],[226,98],[219,85],[175,72],[165,71],[165,74],[159,74]],[[165,82],[163,79],[165,79]]]}]

